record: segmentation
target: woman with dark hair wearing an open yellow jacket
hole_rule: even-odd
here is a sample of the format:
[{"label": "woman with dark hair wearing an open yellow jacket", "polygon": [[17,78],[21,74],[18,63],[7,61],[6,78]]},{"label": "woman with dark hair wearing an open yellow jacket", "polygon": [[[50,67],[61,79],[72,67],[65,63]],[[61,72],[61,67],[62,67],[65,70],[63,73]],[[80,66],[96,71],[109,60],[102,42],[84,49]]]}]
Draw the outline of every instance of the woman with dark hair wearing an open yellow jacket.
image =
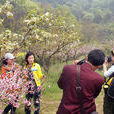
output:
[{"label": "woman with dark hair wearing an open yellow jacket", "polygon": [[40,94],[41,80],[46,76],[42,74],[40,65],[35,63],[35,56],[32,52],[28,52],[25,56],[26,65],[24,66],[25,78],[29,82],[28,92],[26,94],[27,103],[25,104],[25,113],[31,113],[31,99],[34,98],[35,112],[39,114],[40,111]]}]

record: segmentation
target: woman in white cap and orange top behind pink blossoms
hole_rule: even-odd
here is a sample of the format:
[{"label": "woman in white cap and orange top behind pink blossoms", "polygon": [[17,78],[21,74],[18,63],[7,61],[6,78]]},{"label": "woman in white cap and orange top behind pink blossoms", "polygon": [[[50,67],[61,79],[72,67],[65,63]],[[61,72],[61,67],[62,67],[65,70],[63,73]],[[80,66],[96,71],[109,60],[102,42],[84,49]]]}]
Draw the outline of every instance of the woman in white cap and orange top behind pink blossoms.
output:
[{"label": "woman in white cap and orange top behind pink blossoms", "polygon": [[[4,78],[11,78],[14,75],[16,70],[19,70],[19,66],[14,62],[14,55],[12,53],[6,53],[5,59],[3,60],[3,66],[1,68],[1,80]],[[14,114],[16,111],[16,107],[13,104],[9,103],[4,111],[3,114],[7,114],[11,110],[11,114]]]}]

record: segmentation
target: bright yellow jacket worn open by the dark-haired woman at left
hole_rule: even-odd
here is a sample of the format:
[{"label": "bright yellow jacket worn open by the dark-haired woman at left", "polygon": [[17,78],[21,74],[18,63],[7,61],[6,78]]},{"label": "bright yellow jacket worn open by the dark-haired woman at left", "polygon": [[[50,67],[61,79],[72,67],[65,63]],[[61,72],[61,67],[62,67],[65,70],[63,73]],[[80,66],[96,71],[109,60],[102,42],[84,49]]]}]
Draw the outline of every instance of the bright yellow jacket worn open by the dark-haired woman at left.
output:
[{"label": "bright yellow jacket worn open by the dark-haired woman at left", "polygon": [[[27,66],[25,66],[24,69],[27,70]],[[33,63],[32,67],[31,67],[31,71],[33,72],[36,85],[40,86],[41,85],[41,79],[43,77],[40,65],[37,63]]]}]

